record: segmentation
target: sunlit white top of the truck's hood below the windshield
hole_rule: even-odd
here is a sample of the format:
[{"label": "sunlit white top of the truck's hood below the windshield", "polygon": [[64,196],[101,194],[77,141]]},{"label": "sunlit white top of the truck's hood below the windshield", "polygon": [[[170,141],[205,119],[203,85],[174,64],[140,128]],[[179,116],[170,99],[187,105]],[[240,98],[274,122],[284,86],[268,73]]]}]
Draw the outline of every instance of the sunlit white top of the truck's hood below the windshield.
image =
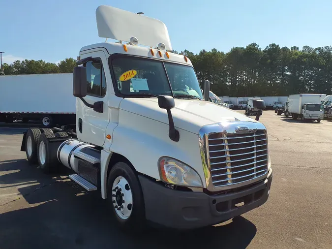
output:
[{"label": "sunlit white top of the truck's hood below the windshield", "polygon": [[[157,98],[124,98],[120,110],[168,124],[167,112],[159,108]],[[226,107],[194,99],[175,99],[175,107],[171,112],[176,127],[195,134],[204,125],[232,121],[257,122]]]}]

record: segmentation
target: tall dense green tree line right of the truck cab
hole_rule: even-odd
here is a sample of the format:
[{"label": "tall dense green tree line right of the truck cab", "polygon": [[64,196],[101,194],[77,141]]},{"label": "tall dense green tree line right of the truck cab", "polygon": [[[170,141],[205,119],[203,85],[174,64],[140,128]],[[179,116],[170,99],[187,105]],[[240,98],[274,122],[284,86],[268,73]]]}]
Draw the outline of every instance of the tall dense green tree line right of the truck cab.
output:
[{"label": "tall dense green tree line right of the truck cab", "polygon": [[201,83],[210,80],[211,91],[218,96],[332,93],[331,46],[300,50],[272,43],[262,50],[251,43],[228,53],[212,49],[181,54],[191,60]]}]

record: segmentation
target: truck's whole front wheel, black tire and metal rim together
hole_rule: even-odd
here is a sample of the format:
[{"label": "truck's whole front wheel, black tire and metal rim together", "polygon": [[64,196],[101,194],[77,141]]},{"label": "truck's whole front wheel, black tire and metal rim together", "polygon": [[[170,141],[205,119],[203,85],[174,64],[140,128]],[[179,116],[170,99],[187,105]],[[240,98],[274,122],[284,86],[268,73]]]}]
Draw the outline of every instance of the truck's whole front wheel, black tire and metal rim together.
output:
[{"label": "truck's whole front wheel, black tire and metal rim together", "polygon": [[126,229],[142,229],[145,208],[141,186],[136,173],[125,162],[117,162],[111,169],[107,181],[107,202],[113,218]]}]

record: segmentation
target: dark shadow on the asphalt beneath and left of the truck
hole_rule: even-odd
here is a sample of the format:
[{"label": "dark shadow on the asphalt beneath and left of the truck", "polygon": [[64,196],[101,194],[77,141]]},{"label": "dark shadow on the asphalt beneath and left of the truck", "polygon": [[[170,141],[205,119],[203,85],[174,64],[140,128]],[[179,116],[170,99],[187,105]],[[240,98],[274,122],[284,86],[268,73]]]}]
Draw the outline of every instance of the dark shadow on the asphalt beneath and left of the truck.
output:
[{"label": "dark shadow on the asphalt beneath and left of the truck", "polygon": [[44,175],[25,159],[1,162],[0,193],[13,185],[19,186],[20,193],[19,198],[0,203],[1,249],[244,249],[256,235],[256,226],[241,216],[191,231],[124,232],[112,220],[99,192],[85,191],[63,173],[68,172]]}]

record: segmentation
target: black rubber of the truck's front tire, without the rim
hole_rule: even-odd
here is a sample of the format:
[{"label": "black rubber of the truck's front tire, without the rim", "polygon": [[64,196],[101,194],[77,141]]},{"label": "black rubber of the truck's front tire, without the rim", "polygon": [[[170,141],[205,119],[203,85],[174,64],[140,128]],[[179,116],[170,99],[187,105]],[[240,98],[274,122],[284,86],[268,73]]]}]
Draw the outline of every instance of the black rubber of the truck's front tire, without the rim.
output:
[{"label": "black rubber of the truck's front tire, without the rim", "polygon": [[[132,191],[132,202],[131,206],[132,211],[130,216],[127,219],[120,218],[113,206],[112,202],[112,186],[117,177],[123,177],[128,182],[130,189]],[[108,180],[107,180],[107,202],[109,207],[112,209],[112,216],[121,228],[125,230],[142,230],[146,226],[145,219],[145,207],[144,207],[144,199],[143,193],[138,181],[136,173],[131,169],[131,167],[125,162],[117,162],[111,169]]]}]

